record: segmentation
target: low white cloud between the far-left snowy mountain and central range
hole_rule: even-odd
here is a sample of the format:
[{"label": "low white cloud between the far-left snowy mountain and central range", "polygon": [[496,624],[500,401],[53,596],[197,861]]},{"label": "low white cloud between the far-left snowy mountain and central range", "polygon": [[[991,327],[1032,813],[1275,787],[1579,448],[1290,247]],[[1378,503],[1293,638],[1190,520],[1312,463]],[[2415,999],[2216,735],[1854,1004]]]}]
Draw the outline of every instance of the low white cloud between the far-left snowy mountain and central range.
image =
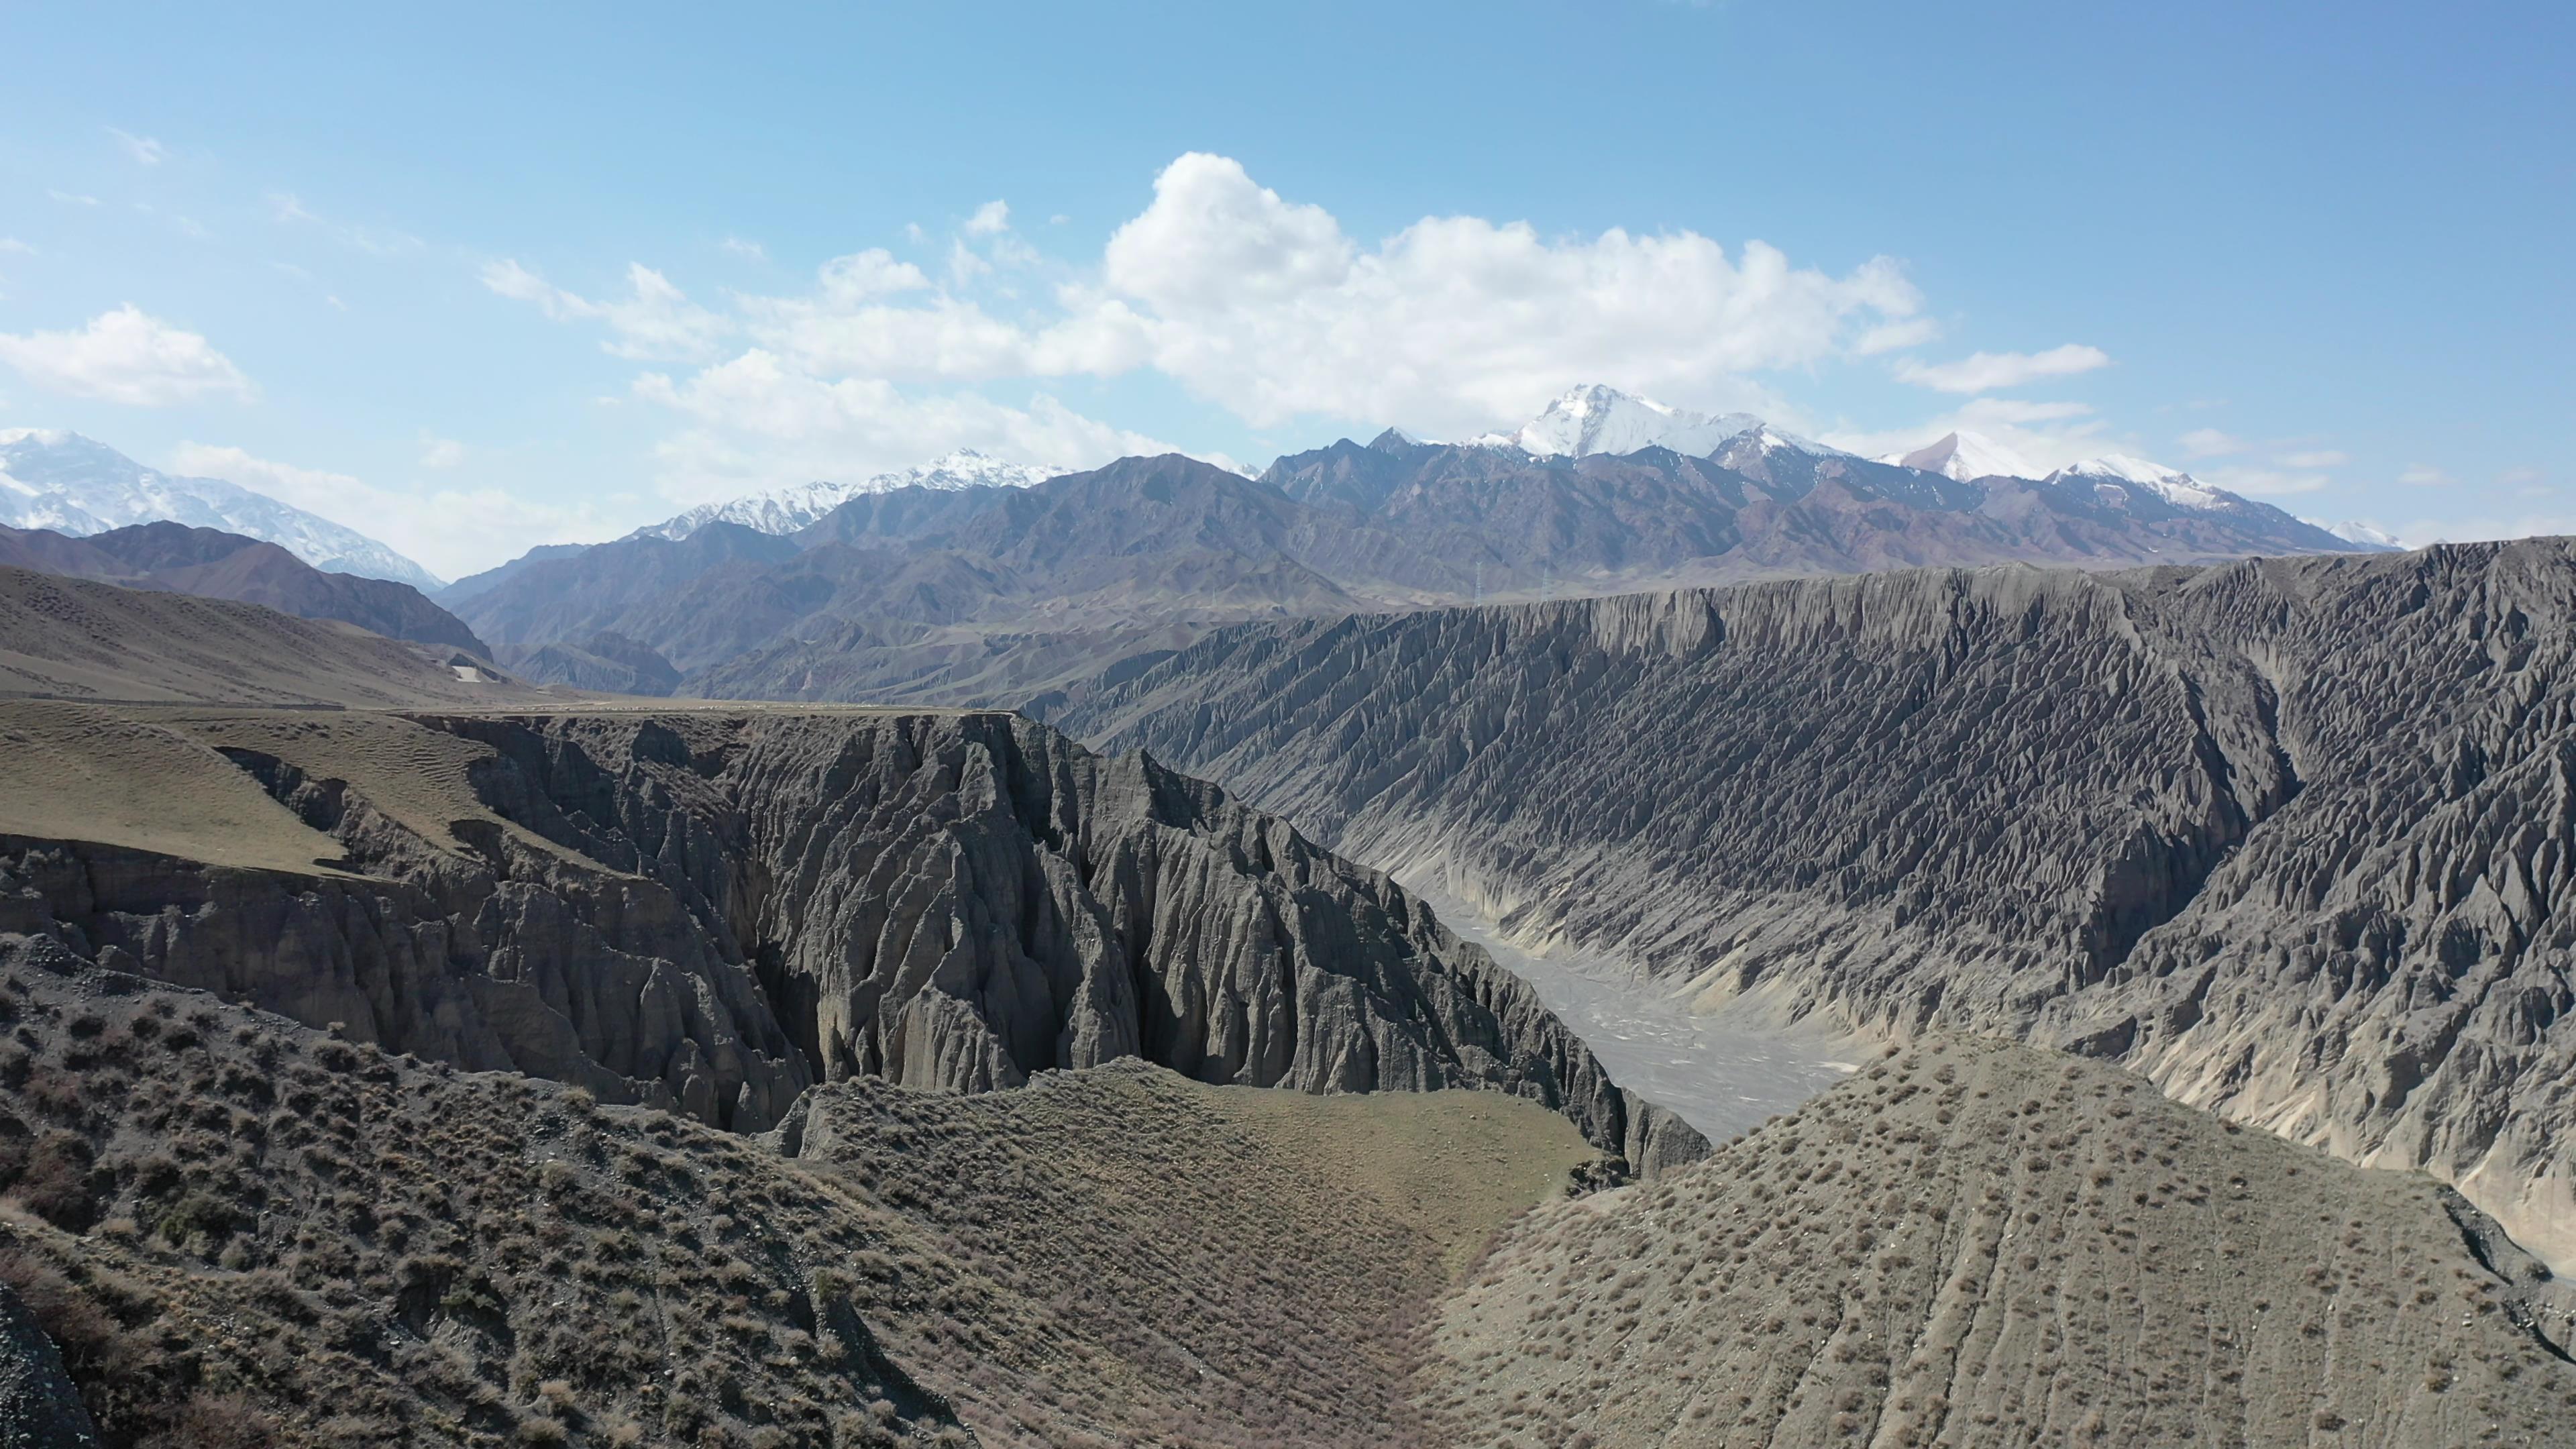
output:
[{"label": "low white cloud between the far-left snowy mountain and central range", "polygon": [[180,443],[165,467],[191,477],[222,477],[319,513],[332,523],[381,539],[443,578],[487,570],[505,554],[533,544],[605,539],[636,523],[636,518],[598,511],[587,498],[551,505],[531,503],[502,487],[410,492],[376,487],[345,472],[281,464],[209,443]]}]

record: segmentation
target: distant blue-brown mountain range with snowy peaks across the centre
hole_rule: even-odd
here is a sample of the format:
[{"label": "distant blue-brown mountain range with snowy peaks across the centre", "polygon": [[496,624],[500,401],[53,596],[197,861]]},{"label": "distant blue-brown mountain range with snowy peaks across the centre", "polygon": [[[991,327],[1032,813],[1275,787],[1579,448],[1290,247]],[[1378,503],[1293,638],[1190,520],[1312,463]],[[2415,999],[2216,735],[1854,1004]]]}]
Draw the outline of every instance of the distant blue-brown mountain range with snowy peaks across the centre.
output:
[{"label": "distant blue-brown mountain range with snowy peaks across the centre", "polygon": [[[2133,459],[1953,477],[1613,389],[1577,389],[1515,438],[1388,428],[1257,480],[1177,454],[1007,485],[943,467],[850,490],[793,531],[773,526],[824,495],[737,508],[755,523],[708,513],[685,531],[556,547],[440,601],[505,665],[582,688],[1043,712],[1121,660],[1249,619],[2367,547]],[[1976,456],[1950,443],[1937,462]]]}]

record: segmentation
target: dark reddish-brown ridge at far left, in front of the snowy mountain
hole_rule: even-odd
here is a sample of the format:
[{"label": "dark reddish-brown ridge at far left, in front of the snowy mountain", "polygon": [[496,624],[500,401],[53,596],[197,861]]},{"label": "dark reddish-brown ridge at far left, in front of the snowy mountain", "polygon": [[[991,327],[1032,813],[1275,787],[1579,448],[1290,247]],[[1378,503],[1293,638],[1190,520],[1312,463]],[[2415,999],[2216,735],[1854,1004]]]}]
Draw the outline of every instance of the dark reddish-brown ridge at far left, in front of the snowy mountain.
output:
[{"label": "dark reddish-brown ridge at far left, in front of the snowy mountain", "polygon": [[137,523],[88,539],[0,529],[0,565],[124,588],[232,598],[296,619],[337,619],[386,639],[448,645],[492,657],[492,650],[461,619],[407,583],[325,572],[276,544],[219,529]]}]

